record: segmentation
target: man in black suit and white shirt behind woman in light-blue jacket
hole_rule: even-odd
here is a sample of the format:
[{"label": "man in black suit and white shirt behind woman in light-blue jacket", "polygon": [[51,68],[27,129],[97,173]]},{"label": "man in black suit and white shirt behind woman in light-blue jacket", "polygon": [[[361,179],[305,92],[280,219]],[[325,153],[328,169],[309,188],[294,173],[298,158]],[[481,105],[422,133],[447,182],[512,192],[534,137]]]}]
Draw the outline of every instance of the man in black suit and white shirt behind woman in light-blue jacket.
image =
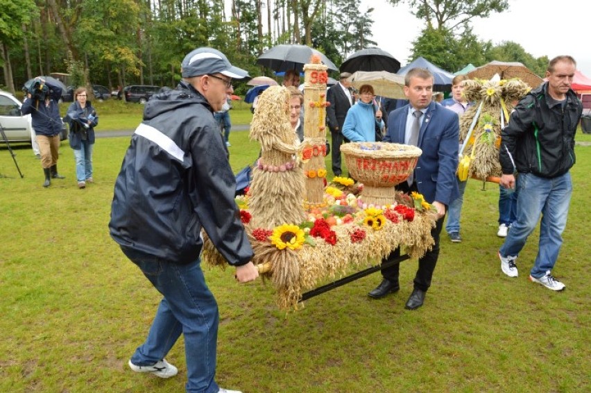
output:
[{"label": "man in black suit and white shirt behind woman in light-blue jacket", "polygon": [[343,137],[343,124],[349,108],[354,104],[348,72],[341,73],[339,83],[329,88],[326,100],[330,105],[326,108],[326,118],[332,140],[332,172],[341,176],[341,144],[348,142]]}]

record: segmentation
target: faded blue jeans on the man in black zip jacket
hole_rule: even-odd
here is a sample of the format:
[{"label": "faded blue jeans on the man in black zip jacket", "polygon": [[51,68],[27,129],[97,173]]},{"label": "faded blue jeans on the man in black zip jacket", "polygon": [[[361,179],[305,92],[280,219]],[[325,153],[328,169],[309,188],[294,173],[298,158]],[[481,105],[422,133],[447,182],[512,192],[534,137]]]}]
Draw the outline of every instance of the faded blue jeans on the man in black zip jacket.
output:
[{"label": "faded blue jeans on the man in black zip jacket", "polygon": [[566,173],[555,178],[541,178],[533,174],[517,176],[517,220],[513,222],[499,252],[502,256],[517,256],[527,237],[538,225],[540,214],[540,242],[538,256],[531,268],[531,276],[540,278],[551,271],[563,244],[572,181]]}]

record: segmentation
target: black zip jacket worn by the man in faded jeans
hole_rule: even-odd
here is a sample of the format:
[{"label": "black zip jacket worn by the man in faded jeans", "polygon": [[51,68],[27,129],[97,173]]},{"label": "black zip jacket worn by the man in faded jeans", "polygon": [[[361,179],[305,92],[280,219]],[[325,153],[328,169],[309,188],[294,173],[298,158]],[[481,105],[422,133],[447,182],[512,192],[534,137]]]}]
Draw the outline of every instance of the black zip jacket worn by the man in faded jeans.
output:
[{"label": "black zip jacket worn by the man in faded jeans", "polygon": [[515,106],[502,131],[499,159],[503,174],[554,178],[568,172],[575,162],[574,135],[581,112],[581,101],[572,90],[564,106],[550,99],[547,82],[531,90]]}]

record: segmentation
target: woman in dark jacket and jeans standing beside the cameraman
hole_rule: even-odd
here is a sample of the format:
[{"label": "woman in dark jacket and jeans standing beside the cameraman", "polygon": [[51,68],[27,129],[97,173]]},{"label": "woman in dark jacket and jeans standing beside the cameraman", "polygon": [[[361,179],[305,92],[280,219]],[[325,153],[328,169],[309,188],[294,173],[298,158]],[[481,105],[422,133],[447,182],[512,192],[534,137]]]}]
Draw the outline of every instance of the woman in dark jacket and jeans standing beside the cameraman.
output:
[{"label": "woman in dark jacket and jeans standing beside the cameraman", "polygon": [[86,187],[92,180],[92,145],[94,144],[94,127],[99,124],[99,117],[90,101],[84,87],[78,87],[74,92],[74,102],[69,106],[65,122],[70,124],[69,142],[74,149],[76,158],[76,180],[78,188]]}]

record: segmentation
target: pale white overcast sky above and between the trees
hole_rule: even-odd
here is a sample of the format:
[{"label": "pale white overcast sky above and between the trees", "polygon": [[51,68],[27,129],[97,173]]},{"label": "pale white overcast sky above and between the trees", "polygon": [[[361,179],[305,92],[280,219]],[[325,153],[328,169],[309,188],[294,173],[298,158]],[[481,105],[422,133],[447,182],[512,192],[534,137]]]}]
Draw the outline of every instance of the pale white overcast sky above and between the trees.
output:
[{"label": "pale white overcast sky above and between the trees", "polygon": [[[393,7],[386,0],[361,0],[360,3],[361,12],[375,8],[372,40],[405,65],[411,53],[411,42],[422,30],[422,20],[413,17],[406,4]],[[591,34],[587,27],[590,13],[586,11],[589,4],[588,0],[509,0],[509,10],[502,14],[473,19],[473,33],[493,44],[517,42],[536,58],[573,56],[577,68],[591,78]]]}]

